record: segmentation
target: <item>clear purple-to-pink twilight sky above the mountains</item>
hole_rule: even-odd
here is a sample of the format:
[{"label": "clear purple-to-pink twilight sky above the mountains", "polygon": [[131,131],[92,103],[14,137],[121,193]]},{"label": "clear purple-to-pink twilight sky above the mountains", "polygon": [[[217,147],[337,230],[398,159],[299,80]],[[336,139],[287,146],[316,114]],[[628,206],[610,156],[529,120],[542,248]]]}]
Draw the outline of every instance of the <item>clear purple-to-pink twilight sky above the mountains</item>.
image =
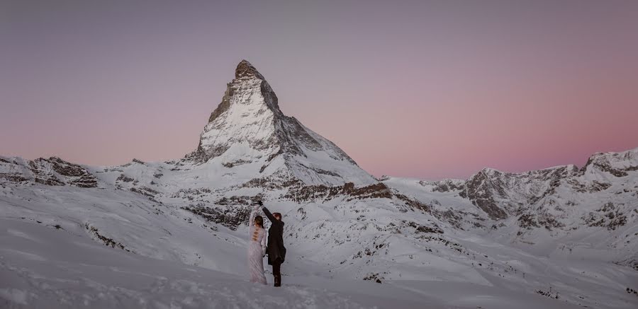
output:
[{"label": "clear purple-to-pink twilight sky above the mountains", "polygon": [[0,1],[0,154],[181,158],[241,59],[373,175],[638,146],[638,1]]}]

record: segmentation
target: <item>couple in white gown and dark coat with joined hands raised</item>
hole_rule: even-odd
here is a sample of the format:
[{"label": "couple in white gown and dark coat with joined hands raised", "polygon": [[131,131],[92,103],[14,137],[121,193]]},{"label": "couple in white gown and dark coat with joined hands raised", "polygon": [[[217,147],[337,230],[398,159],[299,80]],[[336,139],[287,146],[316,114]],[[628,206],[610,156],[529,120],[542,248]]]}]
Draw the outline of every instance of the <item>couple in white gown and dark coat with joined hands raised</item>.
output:
[{"label": "couple in white gown and dark coat with joined hands raised", "polygon": [[[262,209],[266,217],[270,220],[268,230],[268,244],[266,243],[266,230],[264,229],[264,218],[257,216],[257,211]],[[281,221],[281,214],[278,212],[271,214],[264,207],[262,201],[254,203],[250,219],[250,239],[248,240],[248,270],[250,272],[250,282],[266,284],[264,276],[264,255],[268,254],[268,264],[272,265],[272,275],[274,276],[274,286],[281,286],[281,263],[286,257],[286,247],[284,247],[284,222]]]}]

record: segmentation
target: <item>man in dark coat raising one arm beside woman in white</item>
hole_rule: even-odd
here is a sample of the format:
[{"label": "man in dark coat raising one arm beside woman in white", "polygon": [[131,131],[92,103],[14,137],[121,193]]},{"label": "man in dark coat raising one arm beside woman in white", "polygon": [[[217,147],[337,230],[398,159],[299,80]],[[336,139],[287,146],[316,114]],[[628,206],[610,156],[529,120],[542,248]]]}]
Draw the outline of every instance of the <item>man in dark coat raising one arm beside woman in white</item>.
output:
[{"label": "man in dark coat raising one arm beside woman in white", "polygon": [[284,247],[284,222],[281,221],[281,214],[278,212],[271,214],[264,207],[262,201],[257,202],[262,207],[264,214],[270,220],[268,230],[268,264],[272,265],[272,275],[274,276],[274,286],[281,286],[281,263],[286,258],[286,247]]}]

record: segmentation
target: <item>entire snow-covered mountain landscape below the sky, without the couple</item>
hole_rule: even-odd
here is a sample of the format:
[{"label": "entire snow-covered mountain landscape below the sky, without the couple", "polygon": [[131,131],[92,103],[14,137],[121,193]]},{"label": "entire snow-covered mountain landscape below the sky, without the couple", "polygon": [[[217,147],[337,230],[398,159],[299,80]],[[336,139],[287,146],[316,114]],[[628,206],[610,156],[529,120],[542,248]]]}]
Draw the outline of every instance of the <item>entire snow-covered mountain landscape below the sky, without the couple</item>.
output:
[{"label": "entire snow-covered mountain landscape below the sky, without the couple", "polygon": [[[242,281],[255,199],[284,214],[283,292]],[[10,308],[638,301],[638,148],[583,168],[376,180],[283,115],[245,61],[184,158],[94,167],[0,156],[0,220],[0,305]],[[193,274],[201,268],[213,279]]]}]

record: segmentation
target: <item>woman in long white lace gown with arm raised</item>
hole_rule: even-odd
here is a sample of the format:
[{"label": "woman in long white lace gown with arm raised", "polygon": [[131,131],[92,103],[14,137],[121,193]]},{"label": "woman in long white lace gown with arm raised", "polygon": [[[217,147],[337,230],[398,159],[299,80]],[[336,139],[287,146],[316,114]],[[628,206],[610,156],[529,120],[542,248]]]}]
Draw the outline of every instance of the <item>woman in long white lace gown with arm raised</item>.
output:
[{"label": "woman in long white lace gown with arm raised", "polygon": [[266,284],[264,276],[264,256],[266,255],[266,230],[264,229],[264,218],[255,216],[259,210],[259,205],[254,205],[250,213],[250,240],[248,240],[248,271],[250,272],[250,282]]}]

